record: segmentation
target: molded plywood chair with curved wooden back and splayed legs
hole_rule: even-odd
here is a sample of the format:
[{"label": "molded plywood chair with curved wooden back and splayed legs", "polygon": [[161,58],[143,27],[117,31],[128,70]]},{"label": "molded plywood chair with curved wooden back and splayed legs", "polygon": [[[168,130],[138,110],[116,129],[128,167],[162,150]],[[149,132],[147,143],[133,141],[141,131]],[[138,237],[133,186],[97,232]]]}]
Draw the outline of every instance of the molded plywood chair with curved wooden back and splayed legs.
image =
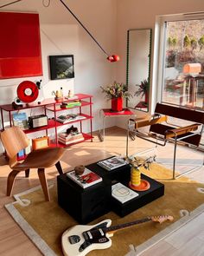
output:
[{"label": "molded plywood chair with curved wooden back and splayed legs", "polygon": [[49,200],[48,184],[45,177],[45,168],[57,167],[59,174],[63,174],[60,159],[64,153],[64,148],[43,148],[32,151],[28,154],[24,161],[17,161],[17,153],[23,148],[29,146],[29,139],[19,127],[11,127],[5,129],[1,134],[3,147],[10,159],[10,172],[7,180],[7,195],[11,194],[16,175],[22,171],[26,177],[29,177],[29,169],[37,168],[38,176],[41,182],[41,188],[45,195],[45,199]]}]

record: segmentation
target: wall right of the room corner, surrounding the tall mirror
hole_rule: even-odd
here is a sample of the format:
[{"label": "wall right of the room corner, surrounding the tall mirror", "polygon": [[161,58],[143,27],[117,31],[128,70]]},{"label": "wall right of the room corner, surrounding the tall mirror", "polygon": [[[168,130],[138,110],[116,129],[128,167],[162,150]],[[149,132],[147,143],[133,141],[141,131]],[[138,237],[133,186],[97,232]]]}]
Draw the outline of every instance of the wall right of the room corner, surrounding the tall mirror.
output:
[{"label": "wall right of the room corner, surrounding the tall mirror", "polygon": [[[125,81],[126,77],[126,47],[127,30],[132,29],[152,29],[152,51],[151,51],[151,79],[152,62],[154,56],[154,28],[156,16],[172,15],[179,13],[188,13],[204,11],[203,0],[118,0],[118,20],[117,20],[117,43],[118,55],[121,56],[121,62],[117,67],[117,80]],[[156,90],[156,88],[155,88]],[[151,93],[151,92],[150,92]],[[151,109],[150,109],[151,111]],[[137,115],[143,115],[137,111]],[[125,127],[126,121],[119,121],[118,126]]]}]

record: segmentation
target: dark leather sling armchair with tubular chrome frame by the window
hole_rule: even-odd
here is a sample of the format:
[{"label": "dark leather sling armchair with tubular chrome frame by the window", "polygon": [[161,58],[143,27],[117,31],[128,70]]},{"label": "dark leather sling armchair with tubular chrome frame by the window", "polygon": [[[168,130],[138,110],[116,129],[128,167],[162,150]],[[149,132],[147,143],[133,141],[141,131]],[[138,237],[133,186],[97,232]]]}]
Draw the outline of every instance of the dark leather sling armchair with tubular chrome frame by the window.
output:
[{"label": "dark leather sling armchair with tubular chrome frame by the window", "polygon": [[[180,127],[169,123],[169,117],[174,117],[180,123],[190,122],[189,125]],[[149,132],[143,132],[143,127],[150,126]],[[184,174],[193,172],[202,166],[194,167],[183,174],[175,175],[176,146],[178,142],[183,145],[193,145],[198,148],[201,141],[201,135],[204,130],[204,112],[172,107],[166,104],[157,103],[155,114],[148,120],[129,119],[126,142],[126,155],[128,156],[129,135],[135,135],[143,140],[151,141],[156,145],[165,146],[168,141],[174,143],[173,158],[173,179],[179,178]]]}]

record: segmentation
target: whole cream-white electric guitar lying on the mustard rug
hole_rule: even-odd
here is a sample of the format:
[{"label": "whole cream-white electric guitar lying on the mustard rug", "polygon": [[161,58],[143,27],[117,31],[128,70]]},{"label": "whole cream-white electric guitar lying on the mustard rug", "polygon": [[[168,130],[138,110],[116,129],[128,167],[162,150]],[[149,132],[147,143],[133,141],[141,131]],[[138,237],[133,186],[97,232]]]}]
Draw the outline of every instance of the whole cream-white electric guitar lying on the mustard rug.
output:
[{"label": "whole cream-white electric guitar lying on the mustard rug", "polygon": [[103,220],[93,226],[77,225],[67,229],[62,234],[61,245],[65,256],[84,256],[92,250],[105,249],[112,246],[113,233],[129,226],[147,221],[163,223],[166,220],[174,220],[172,216],[152,216],[142,220],[111,226],[112,220]]}]

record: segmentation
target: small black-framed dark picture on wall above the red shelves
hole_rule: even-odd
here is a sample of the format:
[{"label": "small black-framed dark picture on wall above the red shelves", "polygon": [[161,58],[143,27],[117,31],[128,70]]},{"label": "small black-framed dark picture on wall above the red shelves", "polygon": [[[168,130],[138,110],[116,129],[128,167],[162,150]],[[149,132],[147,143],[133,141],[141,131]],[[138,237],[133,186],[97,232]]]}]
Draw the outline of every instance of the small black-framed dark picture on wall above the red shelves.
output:
[{"label": "small black-framed dark picture on wall above the red shelves", "polygon": [[73,55],[49,56],[51,80],[74,77]]}]

